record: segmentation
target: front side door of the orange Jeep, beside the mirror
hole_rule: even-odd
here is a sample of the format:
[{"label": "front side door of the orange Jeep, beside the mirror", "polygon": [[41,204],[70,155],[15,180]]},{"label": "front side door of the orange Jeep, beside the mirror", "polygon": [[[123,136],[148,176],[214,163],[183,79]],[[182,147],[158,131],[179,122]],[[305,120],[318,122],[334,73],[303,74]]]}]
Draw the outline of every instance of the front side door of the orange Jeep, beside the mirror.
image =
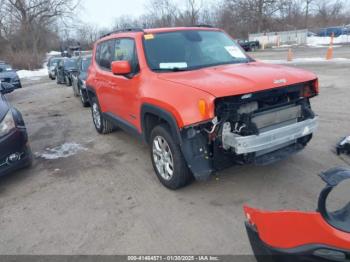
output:
[{"label": "front side door of the orange Jeep, beside the mirror", "polygon": [[113,61],[128,61],[132,69],[132,73],[129,75],[113,75],[110,86],[115,101],[115,112],[117,117],[127,122],[126,124],[139,128],[140,67],[135,40],[117,38]]}]

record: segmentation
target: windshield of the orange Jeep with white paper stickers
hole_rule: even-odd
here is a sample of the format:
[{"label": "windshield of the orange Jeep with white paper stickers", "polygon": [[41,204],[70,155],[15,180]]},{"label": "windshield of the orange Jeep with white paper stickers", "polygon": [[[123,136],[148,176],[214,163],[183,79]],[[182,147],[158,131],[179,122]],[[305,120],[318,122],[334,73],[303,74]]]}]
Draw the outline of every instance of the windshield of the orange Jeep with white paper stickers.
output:
[{"label": "windshield of the orange Jeep with white paper stickers", "polygon": [[184,71],[247,63],[242,49],[220,31],[189,30],[144,36],[148,65],[155,71]]}]

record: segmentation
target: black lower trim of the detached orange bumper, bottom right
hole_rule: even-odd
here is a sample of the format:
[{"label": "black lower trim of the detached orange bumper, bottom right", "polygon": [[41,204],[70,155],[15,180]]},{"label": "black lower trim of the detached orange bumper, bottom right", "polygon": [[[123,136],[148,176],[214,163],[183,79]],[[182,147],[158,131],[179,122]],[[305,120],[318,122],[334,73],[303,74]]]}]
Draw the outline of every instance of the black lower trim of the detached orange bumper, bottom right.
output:
[{"label": "black lower trim of the detached orange bumper, bottom right", "polygon": [[[258,232],[249,223],[246,223],[246,229],[258,262],[347,261],[346,258],[350,256],[350,250],[337,249],[322,244],[306,245],[292,249],[273,248],[260,239]],[[283,232],[280,232],[280,234],[283,234]]]}]

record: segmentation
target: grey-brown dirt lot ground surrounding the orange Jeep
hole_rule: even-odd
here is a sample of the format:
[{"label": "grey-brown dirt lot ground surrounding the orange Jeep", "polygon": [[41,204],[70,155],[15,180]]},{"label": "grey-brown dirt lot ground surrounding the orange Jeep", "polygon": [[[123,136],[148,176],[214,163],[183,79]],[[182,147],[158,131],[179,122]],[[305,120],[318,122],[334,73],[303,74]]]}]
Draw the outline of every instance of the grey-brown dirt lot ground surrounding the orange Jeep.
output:
[{"label": "grey-brown dirt lot ground surrounding the orange Jeep", "polygon": [[[300,48],[298,57],[326,49]],[[350,47],[335,49],[350,58]],[[285,59],[286,50],[251,54]],[[125,132],[98,135],[89,108],[48,78],[24,81],[8,96],[26,121],[33,167],[0,178],[0,254],[251,254],[242,206],[315,210],[318,174],[348,166],[334,146],[350,135],[350,63],[296,64],[320,77],[313,99],[320,127],[301,153],[267,167],[232,167],[208,182],[169,191],[157,180],[148,148]],[[45,160],[47,148],[84,150]],[[344,188],[337,201],[349,199]]]}]

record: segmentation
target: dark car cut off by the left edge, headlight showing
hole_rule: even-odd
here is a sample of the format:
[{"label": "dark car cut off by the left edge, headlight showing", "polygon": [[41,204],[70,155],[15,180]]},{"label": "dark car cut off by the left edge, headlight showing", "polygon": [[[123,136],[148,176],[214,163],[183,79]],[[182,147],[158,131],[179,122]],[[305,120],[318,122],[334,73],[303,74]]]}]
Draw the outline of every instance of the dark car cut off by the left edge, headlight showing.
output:
[{"label": "dark car cut off by the left edge, headlight showing", "polygon": [[0,83],[0,176],[32,163],[32,152],[22,115],[4,96],[14,89],[11,84]]}]

